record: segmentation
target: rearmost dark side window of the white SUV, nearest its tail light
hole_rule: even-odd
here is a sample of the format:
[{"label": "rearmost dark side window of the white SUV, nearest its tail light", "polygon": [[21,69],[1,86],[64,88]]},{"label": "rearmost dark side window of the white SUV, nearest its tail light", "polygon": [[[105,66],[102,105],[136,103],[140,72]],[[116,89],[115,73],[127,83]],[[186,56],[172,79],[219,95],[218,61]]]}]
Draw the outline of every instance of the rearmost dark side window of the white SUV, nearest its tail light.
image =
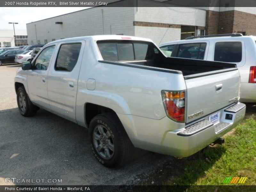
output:
[{"label": "rearmost dark side window of the white SUV, nearest its tail light", "polygon": [[214,49],[214,60],[238,63],[242,60],[242,43],[238,41],[217,42]]}]

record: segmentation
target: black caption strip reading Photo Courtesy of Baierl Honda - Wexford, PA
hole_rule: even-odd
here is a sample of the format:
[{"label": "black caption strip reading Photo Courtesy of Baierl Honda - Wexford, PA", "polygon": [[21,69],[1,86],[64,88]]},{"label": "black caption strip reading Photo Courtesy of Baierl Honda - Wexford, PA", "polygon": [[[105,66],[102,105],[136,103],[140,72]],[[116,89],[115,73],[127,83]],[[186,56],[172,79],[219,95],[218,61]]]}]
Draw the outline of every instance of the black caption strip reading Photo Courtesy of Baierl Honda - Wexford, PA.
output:
[{"label": "black caption strip reading Photo Courtesy of Baierl Honda - Wexford, PA", "polygon": [[209,191],[209,192],[255,192],[256,186],[246,186],[246,185],[219,185],[219,186],[212,186],[212,185],[205,185],[205,186],[176,186],[176,185],[70,185],[70,186],[43,186],[43,185],[20,185],[20,186],[0,186],[1,192],[68,192],[68,191],[76,191],[76,192],[142,192],[142,191],[154,191],[154,192],[161,192],[161,191],[168,191],[168,192],[200,192],[200,191]]}]

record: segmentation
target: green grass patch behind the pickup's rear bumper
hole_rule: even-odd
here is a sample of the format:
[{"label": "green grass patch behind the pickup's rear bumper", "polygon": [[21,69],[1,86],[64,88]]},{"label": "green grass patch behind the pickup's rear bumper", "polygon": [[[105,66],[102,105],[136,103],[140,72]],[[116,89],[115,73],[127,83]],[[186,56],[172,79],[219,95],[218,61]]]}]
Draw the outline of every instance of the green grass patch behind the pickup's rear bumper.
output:
[{"label": "green grass patch behind the pickup's rear bumper", "polygon": [[[175,183],[229,185],[222,184],[226,177],[248,177],[243,185],[256,185],[256,120],[246,119],[225,141],[224,146],[209,147],[186,161],[185,170]],[[173,180],[166,184],[173,185]]]}]

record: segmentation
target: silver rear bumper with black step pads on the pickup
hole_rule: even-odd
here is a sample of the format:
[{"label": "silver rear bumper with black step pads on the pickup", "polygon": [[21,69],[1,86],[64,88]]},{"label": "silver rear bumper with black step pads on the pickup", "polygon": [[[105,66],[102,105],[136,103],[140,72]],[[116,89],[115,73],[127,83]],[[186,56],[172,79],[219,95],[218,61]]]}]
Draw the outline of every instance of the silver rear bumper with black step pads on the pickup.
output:
[{"label": "silver rear bumper with black step pads on the pickup", "polygon": [[[220,123],[215,125],[211,124],[206,117],[201,124],[198,122],[194,129],[192,124],[182,131],[168,132],[163,142],[165,154],[179,157],[193,155],[233,129],[244,118],[245,108],[243,103],[238,103],[230,108],[222,109]],[[227,120],[226,114],[232,115],[232,119]],[[192,130],[186,132],[191,127]],[[197,129],[199,131],[196,131]]]}]

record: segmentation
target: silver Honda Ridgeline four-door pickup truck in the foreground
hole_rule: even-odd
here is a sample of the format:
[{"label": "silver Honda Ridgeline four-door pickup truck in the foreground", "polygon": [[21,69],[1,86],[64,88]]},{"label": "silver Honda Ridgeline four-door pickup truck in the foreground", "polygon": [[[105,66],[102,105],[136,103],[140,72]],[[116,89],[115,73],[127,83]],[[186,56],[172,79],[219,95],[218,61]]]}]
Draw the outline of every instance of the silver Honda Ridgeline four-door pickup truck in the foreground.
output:
[{"label": "silver Honda Ridgeline four-door pickup truck in the foreground", "polygon": [[101,164],[134,147],[190,156],[243,119],[235,64],[168,58],[149,39],[86,36],[46,44],[15,77],[21,115],[43,108],[89,129]]}]

